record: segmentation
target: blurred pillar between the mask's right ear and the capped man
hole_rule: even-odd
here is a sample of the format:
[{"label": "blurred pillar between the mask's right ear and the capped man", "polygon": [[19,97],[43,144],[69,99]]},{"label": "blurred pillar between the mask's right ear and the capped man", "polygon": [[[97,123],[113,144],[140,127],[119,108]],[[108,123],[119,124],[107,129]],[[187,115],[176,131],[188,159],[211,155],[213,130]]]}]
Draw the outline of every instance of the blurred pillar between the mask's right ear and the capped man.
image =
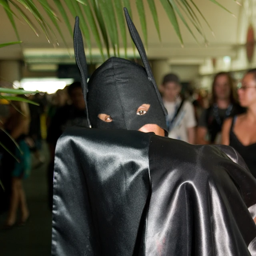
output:
[{"label": "blurred pillar between the mask's right ear and the capped man", "polygon": [[152,60],[151,64],[156,84],[159,86],[162,83],[164,75],[171,72],[170,64],[168,64],[167,60]]}]

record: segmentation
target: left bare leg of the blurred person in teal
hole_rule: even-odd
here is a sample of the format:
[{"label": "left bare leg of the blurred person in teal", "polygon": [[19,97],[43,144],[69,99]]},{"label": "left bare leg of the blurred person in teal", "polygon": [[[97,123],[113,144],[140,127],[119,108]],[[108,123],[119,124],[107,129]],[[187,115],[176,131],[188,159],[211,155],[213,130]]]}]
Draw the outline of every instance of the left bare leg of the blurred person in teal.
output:
[{"label": "left bare leg of the blurred person in teal", "polygon": [[17,214],[19,201],[20,201],[19,179],[12,178],[12,195],[11,195],[10,209],[9,209],[8,218],[6,220],[6,225],[8,226],[14,225],[16,221],[16,214]]}]

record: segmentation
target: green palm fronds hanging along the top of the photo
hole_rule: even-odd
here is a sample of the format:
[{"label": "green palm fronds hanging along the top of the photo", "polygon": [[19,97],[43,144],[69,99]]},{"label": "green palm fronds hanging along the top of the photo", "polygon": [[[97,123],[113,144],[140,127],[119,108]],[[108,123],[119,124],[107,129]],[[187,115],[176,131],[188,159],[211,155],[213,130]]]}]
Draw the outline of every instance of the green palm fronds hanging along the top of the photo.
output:
[{"label": "green palm fronds hanging along the top of the photo", "polygon": [[[120,42],[118,37],[118,32],[120,32],[122,38],[122,44],[125,51],[127,50],[127,38],[126,38],[126,24],[124,22],[124,13],[123,8],[126,7],[128,12],[132,16],[132,10],[130,6],[130,2],[134,0],[53,0],[56,4],[60,16],[56,14],[54,10],[52,10],[51,6],[48,4],[47,0],[0,0],[0,7],[4,8],[12,27],[16,33],[18,41],[20,42],[20,35],[16,28],[15,18],[22,19],[28,24],[28,26],[34,31],[36,35],[38,35],[38,30],[36,28],[36,24],[40,26],[44,35],[46,36],[49,42],[53,44],[58,44],[56,39],[56,35],[54,34],[53,28],[58,31],[62,41],[67,47],[65,42],[65,38],[60,30],[59,22],[61,20],[64,21],[68,31],[70,32],[70,36],[72,36],[72,22],[74,22],[75,16],[80,17],[80,26],[82,33],[85,38],[85,43],[87,44],[89,54],[91,56],[92,52],[92,38],[94,40],[100,50],[100,54],[102,59],[104,60],[104,49],[106,49],[107,56],[110,56],[110,49],[113,48],[114,55],[120,55]],[[230,0],[231,1],[231,0]],[[237,2],[236,0],[233,0]],[[178,36],[180,43],[184,44],[179,22],[181,21],[188,31],[194,37],[194,40],[198,42],[197,36],[191,29],[191,25],[196,28],[197,32],[204,39],[205,44],[207,44],[207,38],[205,36],[202,22],[205,22],[208,28],[212,32],[212,28],[210,24],[200,11],[200,8],[195,4],[194,0],[160,0],[159,1],[170,20],[170,25],[174,29],[176,35]],[[226,10],[230,14],[229,10],[227,10],[220,2],[217,0],[208,0],[208,2],[216,4],[220,8]],[[147,26],[146,26],[146,15],[144,10],[143,0],[135,0],[136,8],[138,11],[138,15],[140,18],[140,24],[142,27],[142,34],[144,37],[144,43],[148,45],[148,36],[147,36]],[[156,0],[147,0],[148,6],[150,8],[150,12],[152,14],[152,18],[154,20],[154,25],[156,27],[156,31],[158,33],[159,40],[161,40],[160,35],[160,25],[158,21],[158,14],[156,10]],[[238,2],[237,2],[238,3]],[[40,5],[46,12],[46,15],[41,14],[38,11],[37,6]],[[72,14],[72,20],[68,18],[68,13],[66,10]],[[36,23],[34,24],[25,13],[30,12]],[[234,14],[232,14],[234,16]],[[51,20],[51,24],[46,21],[46,16],[48,16]],[[165,24],[166,25],[166,24]],[[214,33],[212,32],[214,35]],[[54,38],[54,40],[52,40]],[[0,47],[8,46],[10,44],[14,44],[15,42],[10,42],[7,44],[0,44]],[[18,43],[18,42],[17,42]],[[132,44],[134,48],[134,44]],[[67,47],[68,48],[68,47]],[[134,56],[135,56],[135,48],[134,48]]]}]

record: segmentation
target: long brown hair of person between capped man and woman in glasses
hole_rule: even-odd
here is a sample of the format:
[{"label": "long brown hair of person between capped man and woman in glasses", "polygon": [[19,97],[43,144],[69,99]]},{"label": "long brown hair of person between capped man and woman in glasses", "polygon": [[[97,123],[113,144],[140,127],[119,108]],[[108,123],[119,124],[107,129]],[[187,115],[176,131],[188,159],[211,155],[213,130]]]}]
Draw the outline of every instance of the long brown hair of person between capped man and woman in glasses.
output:
[{"label": "long brown hair of person between capped man and woman in glasses", "polygon": [[237,103],[238,97],[237,97],[236,89],[234,87],[234,80],[233,80],[232,76],[228,72],[219,72],[218,74],[216,74],[214,76],[214,80],[212,82],[211,104],[214,104],[217,101],[217,96],[216,96],[216,92],[215,92],[215,84],[216,84],[216,80],[218,79],[219,76],[226,76],[228,78],[228,84],[230,86],[230,103],[232,103],[232,104]]}]

